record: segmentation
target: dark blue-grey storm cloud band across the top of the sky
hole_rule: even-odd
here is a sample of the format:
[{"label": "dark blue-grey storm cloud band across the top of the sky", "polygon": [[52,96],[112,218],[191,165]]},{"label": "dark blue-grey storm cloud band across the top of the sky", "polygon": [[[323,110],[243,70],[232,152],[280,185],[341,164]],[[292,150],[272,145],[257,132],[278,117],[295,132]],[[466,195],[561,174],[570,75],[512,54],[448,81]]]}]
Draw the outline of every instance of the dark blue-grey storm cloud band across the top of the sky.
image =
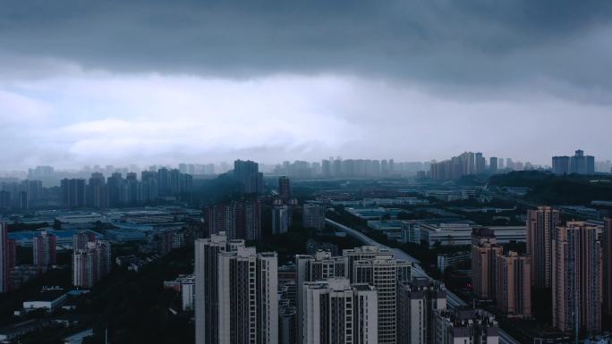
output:
[{"label": "dark blue-grey storm cloud band across the top of the sky", "polygon": [[[608,0],[4,1],[0,72],[32,76],[30,59],[48,59],[121,73],[608,89],[611,10]],[[46,63],[34,76],[53,72]]]}]

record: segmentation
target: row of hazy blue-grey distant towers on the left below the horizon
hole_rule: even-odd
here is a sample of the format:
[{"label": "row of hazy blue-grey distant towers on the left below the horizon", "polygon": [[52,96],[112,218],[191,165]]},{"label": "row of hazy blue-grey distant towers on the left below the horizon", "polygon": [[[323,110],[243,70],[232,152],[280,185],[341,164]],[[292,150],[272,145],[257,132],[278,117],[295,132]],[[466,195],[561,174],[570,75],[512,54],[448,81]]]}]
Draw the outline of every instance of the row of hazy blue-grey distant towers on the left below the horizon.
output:
[{"label": "row of hazy blue-grey distant towers on the left below the horizon", "polygon": [[159,197],[180,197],[190,193],[193,180],[191,174],[176,169],[161,168],[157,172],[114,172],[105,178],[101,172],[91,173],[89,182],[84,179],[61,180],[62,205],[75,208],[108,208],[146,204]]}]

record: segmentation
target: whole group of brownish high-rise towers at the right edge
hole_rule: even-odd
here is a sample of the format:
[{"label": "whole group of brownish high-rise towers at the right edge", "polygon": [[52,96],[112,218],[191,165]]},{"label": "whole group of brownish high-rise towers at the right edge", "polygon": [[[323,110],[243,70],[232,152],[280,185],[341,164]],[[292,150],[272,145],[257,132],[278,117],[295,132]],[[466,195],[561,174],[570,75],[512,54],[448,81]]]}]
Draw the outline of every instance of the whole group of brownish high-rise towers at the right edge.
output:
[{"label": "whole group of brownish high-rise towers at the right edge", "polygon": [[[472,234],[472,285],[499,312],[531,317],[531,288],[548,289],[553,326],[562,332],[598,334],[602,312],[612,315],[612,219],[561,222],[548,206],[530,210],[527,252],[504,252],[494,231]],[[602,298],[603,297],[603,298]]]}]

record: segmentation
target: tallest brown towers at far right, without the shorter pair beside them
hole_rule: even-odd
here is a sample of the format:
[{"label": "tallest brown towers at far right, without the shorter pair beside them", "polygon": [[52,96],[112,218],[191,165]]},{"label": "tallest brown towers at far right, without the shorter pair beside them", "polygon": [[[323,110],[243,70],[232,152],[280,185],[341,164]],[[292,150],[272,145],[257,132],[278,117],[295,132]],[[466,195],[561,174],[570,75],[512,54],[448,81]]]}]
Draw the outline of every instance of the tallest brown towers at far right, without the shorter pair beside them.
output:
[{"label": "tallest brown towers at far right, without the shorter pair beside them", "polygon": [[556,209],[540,206],[529,212],[527,231],[532,286],[551,289],[552,324],[565,332],[600,332],[602,311],[612,315],[612,220],[606,219],[603,228],[563,223]]}]

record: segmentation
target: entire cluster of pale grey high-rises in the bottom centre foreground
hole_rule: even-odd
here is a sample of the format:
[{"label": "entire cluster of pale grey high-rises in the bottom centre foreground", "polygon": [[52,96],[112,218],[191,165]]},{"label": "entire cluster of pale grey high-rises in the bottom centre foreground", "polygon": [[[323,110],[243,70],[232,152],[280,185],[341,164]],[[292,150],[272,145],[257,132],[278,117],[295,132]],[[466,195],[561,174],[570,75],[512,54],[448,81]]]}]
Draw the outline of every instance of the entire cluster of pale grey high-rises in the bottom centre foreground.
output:
[{"label": "entire cluster of pale grey high-rises in the bottom centre foreground", "polygon": [[448,309],[443,284],[412,278],[412,264],[386,248],[298,255],[288,273],[278,269],[276,253],[258,253],[220,232],[196,240],[195,256],[197,344],[498,340],[493,315]]}]

